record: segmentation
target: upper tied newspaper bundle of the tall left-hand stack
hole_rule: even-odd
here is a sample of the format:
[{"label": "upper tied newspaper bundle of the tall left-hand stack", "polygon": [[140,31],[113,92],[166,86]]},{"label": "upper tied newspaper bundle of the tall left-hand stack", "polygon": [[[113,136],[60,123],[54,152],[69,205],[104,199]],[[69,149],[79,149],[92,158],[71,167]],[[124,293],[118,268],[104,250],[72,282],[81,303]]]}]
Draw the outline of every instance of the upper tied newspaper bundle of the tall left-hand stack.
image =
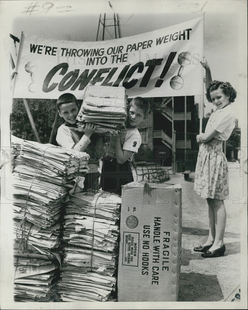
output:
[{"label": "upper tied newspaper bundle of the tall left-hand stack", "polygon": [[[17,143],[13,148],[20,149]],[[13,166],[14,217],[43,228],[55,224],[73,180],[88,172],[88,159],[87,153],[23,140]]]}]

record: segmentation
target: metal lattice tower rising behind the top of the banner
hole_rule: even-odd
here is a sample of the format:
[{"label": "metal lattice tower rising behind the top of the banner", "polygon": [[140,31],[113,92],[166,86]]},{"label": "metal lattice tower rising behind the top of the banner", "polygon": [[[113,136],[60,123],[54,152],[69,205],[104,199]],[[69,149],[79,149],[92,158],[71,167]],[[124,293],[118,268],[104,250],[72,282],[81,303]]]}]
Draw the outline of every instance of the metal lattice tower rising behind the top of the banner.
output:
[{"label": "metal lattice tower rising behind the top of the banner", "polygon": [[119,16],[117,13],[112,16],[112,14],[100,14],[97,41],[121,38]]}]

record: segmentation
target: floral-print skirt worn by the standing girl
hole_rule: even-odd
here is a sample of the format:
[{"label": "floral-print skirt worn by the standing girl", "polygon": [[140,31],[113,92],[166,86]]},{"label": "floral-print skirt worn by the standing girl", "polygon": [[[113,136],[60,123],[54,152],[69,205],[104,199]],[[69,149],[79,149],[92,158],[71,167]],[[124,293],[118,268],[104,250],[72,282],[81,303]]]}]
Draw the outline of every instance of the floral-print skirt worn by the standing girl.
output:
[{"label": "floral-print skirt worn by the standing girl", "polygon": [[194,190],[203,198],[228,199],[228,165],[222,140],[202,143],[195,168]]}]

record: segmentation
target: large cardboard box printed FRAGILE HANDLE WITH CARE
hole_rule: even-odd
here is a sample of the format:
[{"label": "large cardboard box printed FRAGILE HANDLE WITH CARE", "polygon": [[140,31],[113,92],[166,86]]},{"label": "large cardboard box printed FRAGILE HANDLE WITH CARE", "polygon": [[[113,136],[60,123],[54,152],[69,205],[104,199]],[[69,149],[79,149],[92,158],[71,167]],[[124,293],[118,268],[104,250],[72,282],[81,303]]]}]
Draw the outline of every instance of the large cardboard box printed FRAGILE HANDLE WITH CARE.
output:
[{"label": "large cardboard box printed FRAGILE HANDLE WITH CARE", "polygon": [[181,184],[122,187],[118,301],[177,301]]}]

